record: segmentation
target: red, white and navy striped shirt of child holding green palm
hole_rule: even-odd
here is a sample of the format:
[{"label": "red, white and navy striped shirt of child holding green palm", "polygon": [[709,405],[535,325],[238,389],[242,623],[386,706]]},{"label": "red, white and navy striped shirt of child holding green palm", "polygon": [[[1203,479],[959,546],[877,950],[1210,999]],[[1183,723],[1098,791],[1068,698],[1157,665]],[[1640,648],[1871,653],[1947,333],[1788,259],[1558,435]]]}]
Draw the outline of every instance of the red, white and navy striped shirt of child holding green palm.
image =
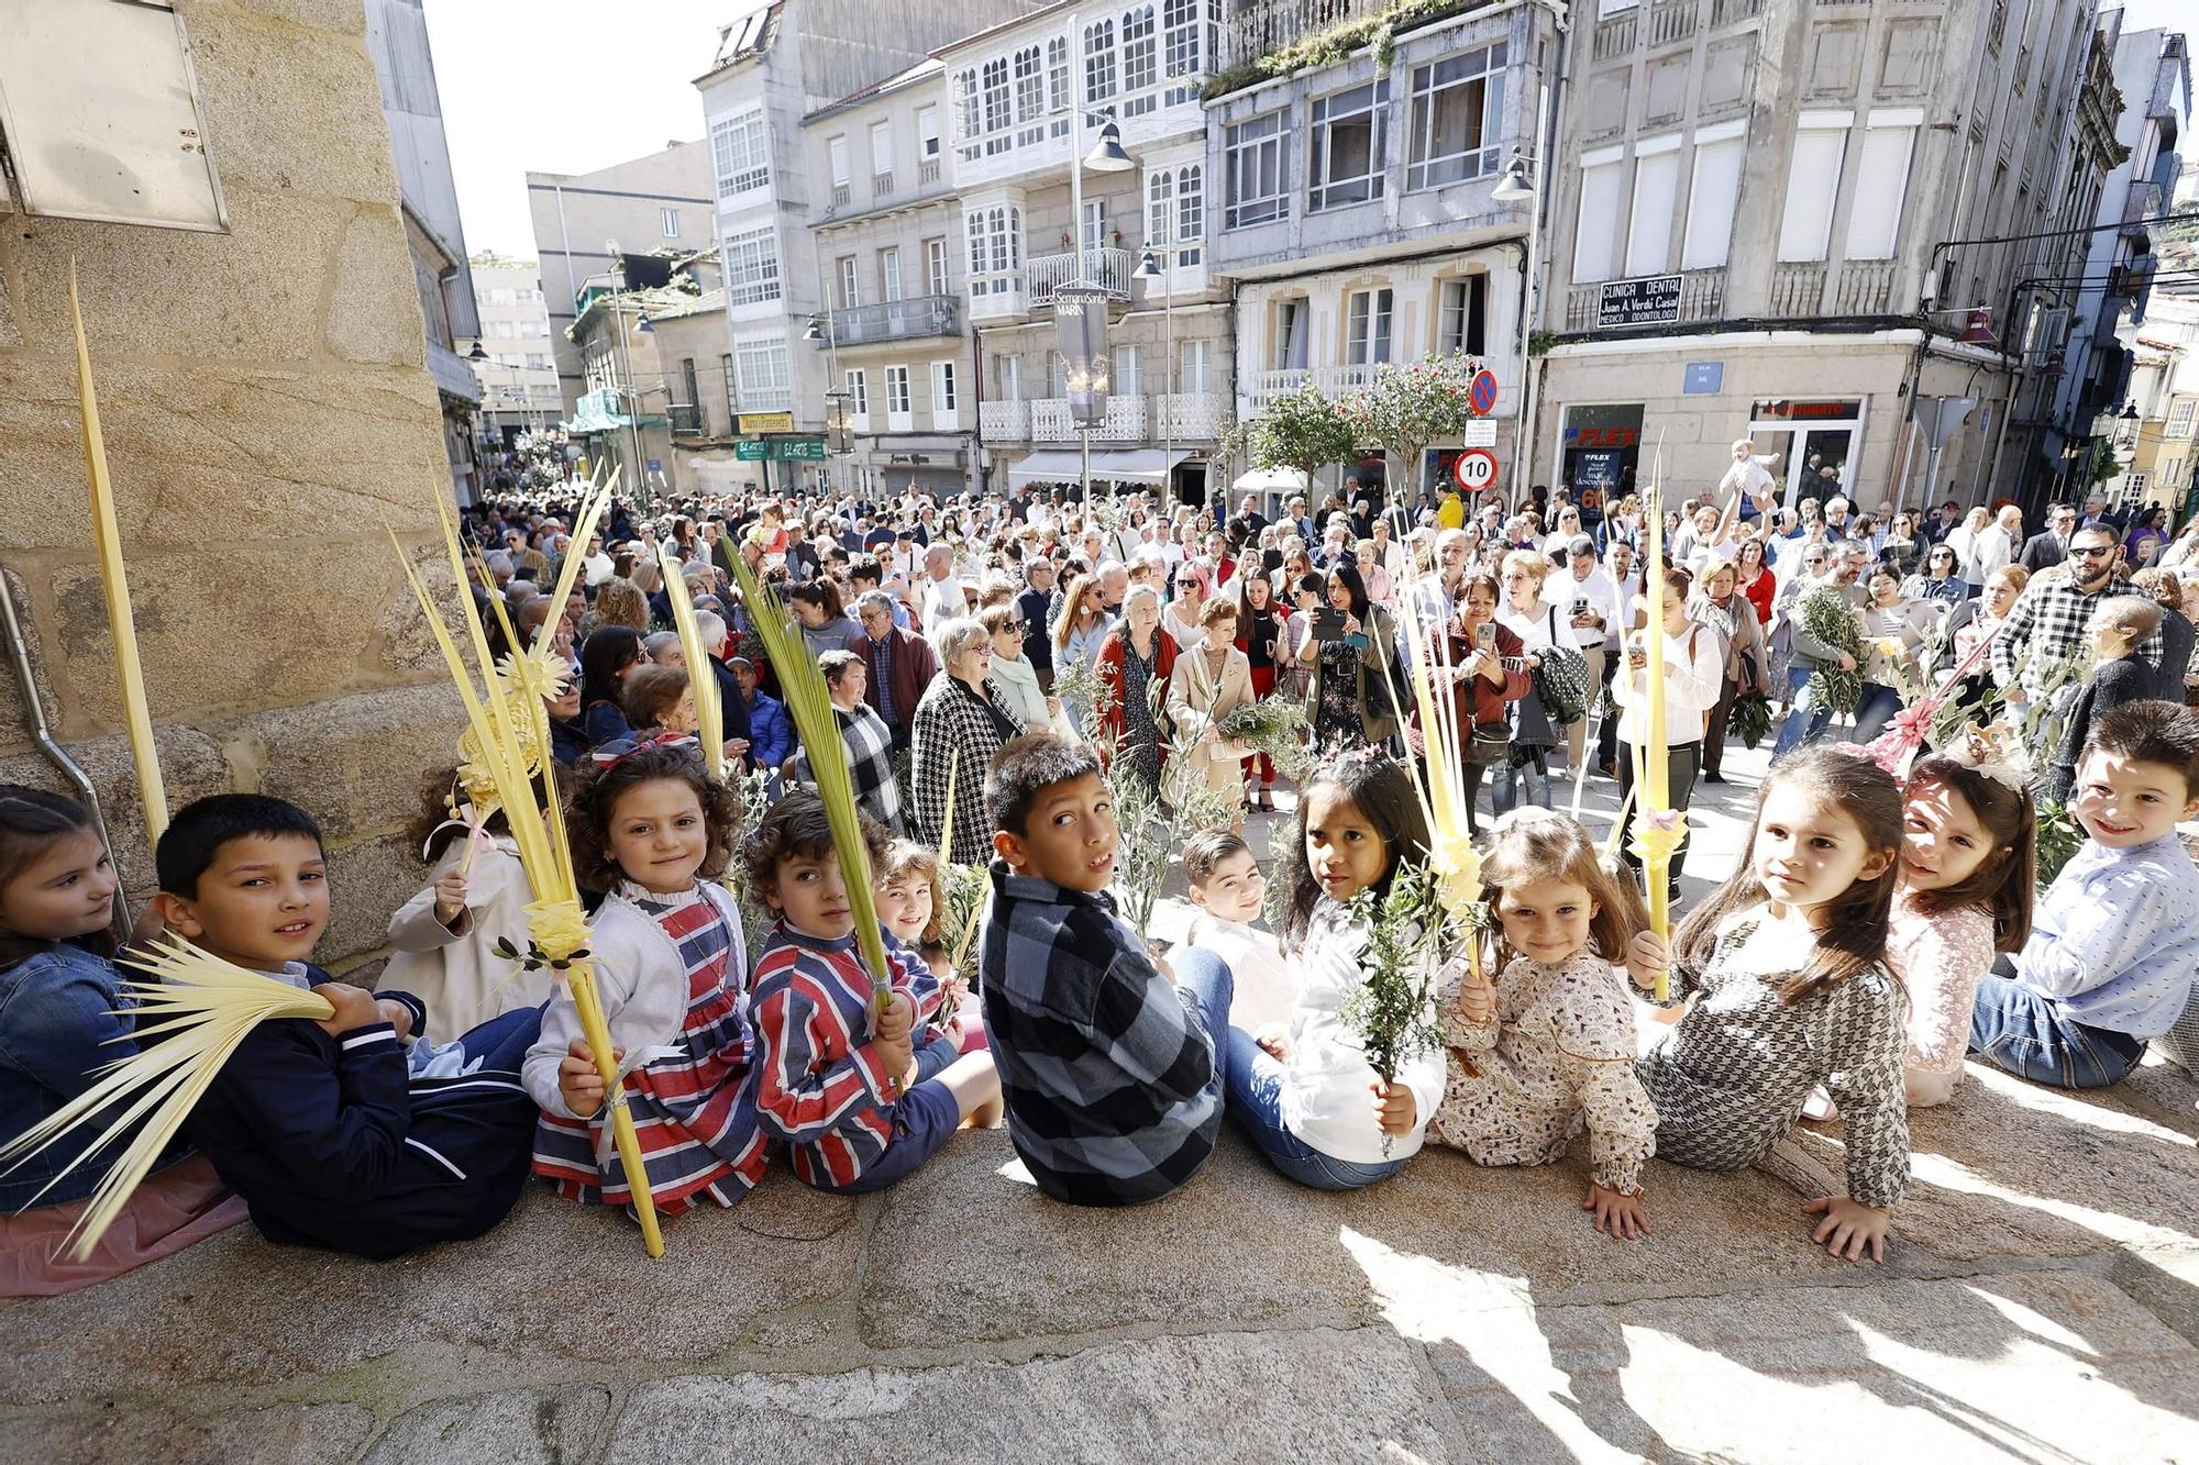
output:
[{"label": "red, white and navy striped shirt of child holding green palm", "polygon": [[[891,935],[886,959],[921,1027],[939,1012],[939,981]],[[871,1018],[853,933],[827,941],[783,919],[772,926],[756,959],[756,1115],[807,1186],[851,1186],[893,1144],[899,1073],[871,1040]]]}]

